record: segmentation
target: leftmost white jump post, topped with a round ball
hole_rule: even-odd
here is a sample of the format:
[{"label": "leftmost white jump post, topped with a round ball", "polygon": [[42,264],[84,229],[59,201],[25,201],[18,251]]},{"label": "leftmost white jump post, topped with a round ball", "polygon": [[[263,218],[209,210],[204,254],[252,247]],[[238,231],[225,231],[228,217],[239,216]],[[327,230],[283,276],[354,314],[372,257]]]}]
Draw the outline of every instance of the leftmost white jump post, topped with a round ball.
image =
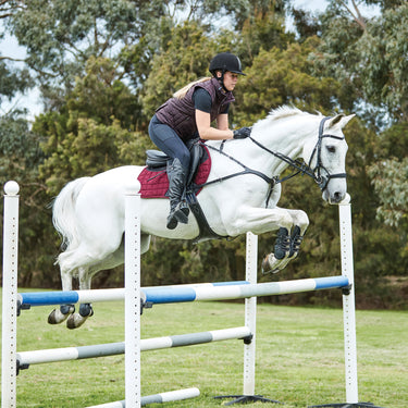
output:
[{"label": "leftmost white jump post, topped with a round ball", "polygon": [[16,407],[18,190],[4,185],[1,408]]}]

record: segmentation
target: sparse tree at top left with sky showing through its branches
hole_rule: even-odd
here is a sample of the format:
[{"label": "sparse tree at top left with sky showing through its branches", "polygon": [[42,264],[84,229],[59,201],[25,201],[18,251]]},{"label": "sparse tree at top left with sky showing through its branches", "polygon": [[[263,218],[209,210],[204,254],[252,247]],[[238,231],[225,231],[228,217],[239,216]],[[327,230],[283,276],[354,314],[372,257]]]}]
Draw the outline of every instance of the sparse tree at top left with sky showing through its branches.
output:
[{"label": "sparse tree at top left with sky showing through its branches", "polygon": [[101,0],[22,2],[20,12],[8,26],[26,47],[28,66],[37,73],[47,108],[63,103],[76,76],[83,76],[90,57],[109,57],[116,61],[118,72],[126,76],[119,58],[146,34],[153,21],[164,14],[160,1]]}]

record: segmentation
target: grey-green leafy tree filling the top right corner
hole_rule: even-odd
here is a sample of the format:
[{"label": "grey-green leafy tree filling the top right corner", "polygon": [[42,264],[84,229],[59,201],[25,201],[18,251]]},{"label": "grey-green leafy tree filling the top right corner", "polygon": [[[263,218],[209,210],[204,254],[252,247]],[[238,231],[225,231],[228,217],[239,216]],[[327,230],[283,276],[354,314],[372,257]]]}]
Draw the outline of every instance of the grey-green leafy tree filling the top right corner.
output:
[{"label": "grey-green leafy tree filling the top right corner", "polygon": [[[372,2],[369,2],[372,3]],[[356,7],[355,12],[344,1],[332,1],[322,15],[322,44],[316,53],[318,67],[326,75],[349,84],[359,99],[355,110],[368,118],[385,111],[383,122],[371,118],[374,125],[384,121],[408,120],[408,61],[406,2],[379,2],[382,13],[364,18]],[[356,4],[356,3],[354,3]]]}]

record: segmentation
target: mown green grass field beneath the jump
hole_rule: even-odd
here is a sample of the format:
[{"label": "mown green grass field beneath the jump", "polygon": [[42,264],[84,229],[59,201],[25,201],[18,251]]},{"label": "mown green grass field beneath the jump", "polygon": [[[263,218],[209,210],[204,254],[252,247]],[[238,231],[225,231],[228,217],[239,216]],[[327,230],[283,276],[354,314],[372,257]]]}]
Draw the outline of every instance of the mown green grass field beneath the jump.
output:
[{"label": "mown green grass field beneath the jump", "polygon": [[[48,307],[23,311],[17,351],[124,339],[123,302],[95,305],[95,316],[76,331],[48,325],[49,311]],[[407,312],[357,311],[360,400],[385,408],[408,407],[407,323]],[[240,325],[243,304],[157,305],[143,314],[141,337]],[[242,341],[228,341],[146,351],[143,395],[196,386],[200,397],[164,406],[220,407],[222,400],[213,396],[243,391],[243,349]],[[259,305],[256,393],[287,408],[344,403],[342,310]],[[121,399],[124,356],[36,364],[17,376],[18,408],[81,408]],[[151,405],[156,406],[162,405]]]}]

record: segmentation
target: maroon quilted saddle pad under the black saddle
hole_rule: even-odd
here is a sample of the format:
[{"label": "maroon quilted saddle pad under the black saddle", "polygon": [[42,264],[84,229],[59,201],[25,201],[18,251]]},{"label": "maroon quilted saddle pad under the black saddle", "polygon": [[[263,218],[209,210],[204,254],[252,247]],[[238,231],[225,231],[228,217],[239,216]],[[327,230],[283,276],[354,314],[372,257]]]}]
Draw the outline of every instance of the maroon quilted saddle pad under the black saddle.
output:
[{"label": "maroon quilted saddle pad under the black saddle", "polygon": [[[200,185],[207,182],[211,170],[211,157],[206,146],[203,161],[198,166],[197,174],[194,178],[194,184]],[[150,170],[145,168],[137,180],[140,183],[141,198],[164,198],[168,197],[169,178],[165,170]],[[201,191],[201,188],[196,191],[196,195]]]}]

